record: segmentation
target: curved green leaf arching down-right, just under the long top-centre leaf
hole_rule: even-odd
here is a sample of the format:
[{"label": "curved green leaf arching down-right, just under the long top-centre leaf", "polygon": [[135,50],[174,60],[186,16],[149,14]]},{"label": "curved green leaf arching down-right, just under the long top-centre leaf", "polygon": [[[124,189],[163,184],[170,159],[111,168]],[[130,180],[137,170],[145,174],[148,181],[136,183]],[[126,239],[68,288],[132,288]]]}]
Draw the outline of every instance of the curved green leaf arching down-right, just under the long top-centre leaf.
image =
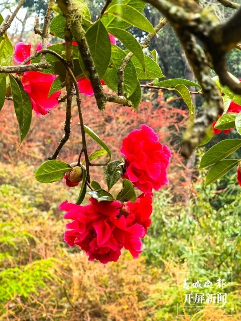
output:
[{"label": "curved green leaf arching down-right, just under the long top-centre leaf", "polygon": [[123,45],[137,57],[142,65],[143,70],[145,71],[144,53],[136,38],[133,37],[133,35],[128,31],[123,29],[109,28],[108,31],[111,33],[111,35],[118,38],[118,40],[121,41]]}]

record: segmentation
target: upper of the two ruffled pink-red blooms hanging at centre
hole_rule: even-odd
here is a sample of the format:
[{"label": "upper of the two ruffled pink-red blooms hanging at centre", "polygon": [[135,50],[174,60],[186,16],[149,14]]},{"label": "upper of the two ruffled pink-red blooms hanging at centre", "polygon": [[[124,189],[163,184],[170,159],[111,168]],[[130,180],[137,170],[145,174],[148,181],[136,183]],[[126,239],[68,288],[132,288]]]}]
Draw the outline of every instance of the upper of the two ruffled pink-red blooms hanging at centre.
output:
[{"label": "upper of the two ruffled pink-red blooms hanging at centre", "polygon": [[141,125],[141,129],[134,129],[123,139],[121,153],[125,155],[125,177],[139,190],[151,192],[168,184],[166,170],[171,151],[159,142],[151,127]]}]

